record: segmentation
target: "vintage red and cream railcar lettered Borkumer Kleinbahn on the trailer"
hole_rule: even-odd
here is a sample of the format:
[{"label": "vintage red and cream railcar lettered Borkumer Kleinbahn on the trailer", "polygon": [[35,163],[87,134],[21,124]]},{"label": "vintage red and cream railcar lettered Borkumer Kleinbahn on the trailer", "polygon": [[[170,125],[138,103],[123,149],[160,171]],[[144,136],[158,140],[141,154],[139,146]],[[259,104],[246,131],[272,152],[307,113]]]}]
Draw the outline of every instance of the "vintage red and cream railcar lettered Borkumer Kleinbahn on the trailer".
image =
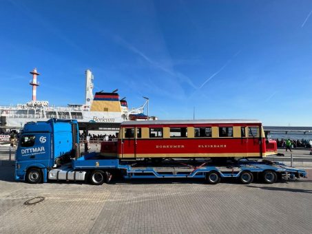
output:
[{"label": "vintage red and cream railcar lettered Borkumer Kleinbahn on the trailer", "polygon": [[153,120],[121,123],[101,154],[138,158],[262,158],[277,153],[259,120]]}]

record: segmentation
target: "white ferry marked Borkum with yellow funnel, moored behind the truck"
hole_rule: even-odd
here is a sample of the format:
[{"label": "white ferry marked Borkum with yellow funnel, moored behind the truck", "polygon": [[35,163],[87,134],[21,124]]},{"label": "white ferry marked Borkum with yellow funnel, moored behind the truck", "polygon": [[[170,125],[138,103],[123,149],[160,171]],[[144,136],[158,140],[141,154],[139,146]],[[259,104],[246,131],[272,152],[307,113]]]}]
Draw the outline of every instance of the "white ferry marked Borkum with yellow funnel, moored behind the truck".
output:
[{"label": "white ferry marked Borkum with yellow funnel, moored behind the truck", "polygon": [[[146,120],[148,118],[148,98],[138,108],[129,109],[125,98],[120,99],[114,92],[96,92],[93,95],[94,76],[90,70],[85,72],[85,103],[68,104],[67,107],[49,106],[48,101],[36,100],[37,70],[34,69],[30,85],[32,85],[32,101],[26,104],[3,107],[0,106],[0,126],[6,129],[19,129],[30,121],[45,121],[50,118],[76,119],[79,123],[121,123],[124,120]],[[143,114],[147,107],[147,116]]]}]

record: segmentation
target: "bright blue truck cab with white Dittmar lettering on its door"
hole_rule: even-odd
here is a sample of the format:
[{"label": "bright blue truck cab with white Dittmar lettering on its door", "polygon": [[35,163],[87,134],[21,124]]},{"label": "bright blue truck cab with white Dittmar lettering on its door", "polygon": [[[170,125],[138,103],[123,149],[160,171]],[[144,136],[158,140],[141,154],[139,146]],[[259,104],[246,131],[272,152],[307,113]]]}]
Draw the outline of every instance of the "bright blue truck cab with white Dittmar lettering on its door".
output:
[{"label": "bright blue truck cab with white Dittmar lettering on its door", "polygon": [[25,124],[16,153],[16,180],[47,182],[48,171],[79,156],[78,133],[76,120],[52,118]]}]

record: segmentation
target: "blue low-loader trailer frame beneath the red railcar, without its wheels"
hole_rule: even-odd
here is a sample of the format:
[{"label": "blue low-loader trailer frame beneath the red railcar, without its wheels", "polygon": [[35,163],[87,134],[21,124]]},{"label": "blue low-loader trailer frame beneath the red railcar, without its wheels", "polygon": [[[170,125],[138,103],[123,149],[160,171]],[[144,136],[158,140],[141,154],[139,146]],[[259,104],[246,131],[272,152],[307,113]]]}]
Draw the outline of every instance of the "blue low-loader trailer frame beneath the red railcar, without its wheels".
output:
[{"label": "blue low-loader trailer frame beneath the red railcar, without its wheels", "polygon": [[96,153],[72,160],[72,169],[118,169],[124,178],[206,178],[215,171],[220,178],[240,178],[242,172],[253,174],[273,171],[289,178],[306,177],[306,171],[287,167],[280,162],[239,160],[226,165],[214,165],[205,160],[164,160],[159,165],[148,162],[121,162],[117,158],[101,158]]}]

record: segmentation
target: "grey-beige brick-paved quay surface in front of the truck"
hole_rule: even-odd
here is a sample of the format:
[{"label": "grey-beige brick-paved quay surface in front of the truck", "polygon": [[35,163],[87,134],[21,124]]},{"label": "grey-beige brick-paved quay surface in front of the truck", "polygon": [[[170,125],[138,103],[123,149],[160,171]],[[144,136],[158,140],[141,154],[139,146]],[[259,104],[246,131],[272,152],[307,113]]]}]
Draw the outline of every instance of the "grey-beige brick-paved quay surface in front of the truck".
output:
[{"label": "grey-beige brick-paved quay surface in front of the truck", "polygon": [[[308,170],[312,174],[312,170]],[[14,182],[0,164],[0,233],[312,233],[312,180]],[[25,205],[42,197],[37,204]],[[32,201],[30,201],[32,202]]]}]

